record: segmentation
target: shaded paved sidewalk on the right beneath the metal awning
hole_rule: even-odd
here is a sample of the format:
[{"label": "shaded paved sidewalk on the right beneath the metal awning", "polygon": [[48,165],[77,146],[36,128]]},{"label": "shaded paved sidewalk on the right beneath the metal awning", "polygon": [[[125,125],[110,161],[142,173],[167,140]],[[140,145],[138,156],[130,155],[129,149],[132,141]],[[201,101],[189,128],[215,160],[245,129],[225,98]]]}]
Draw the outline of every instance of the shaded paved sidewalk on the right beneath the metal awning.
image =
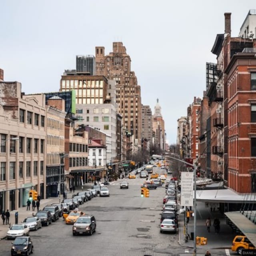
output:
[{"label": "shaded paved sidewalk on the right beneath the metal awning", "polygon": [[[198,202],[197,204],[202,204],[202,202]],[[193,210],[193,208],[192,208]],[[206,210],[207,211],[207,210]],[[232,241],[234,236],[236,235],[230,226],[226,224],[226,219],[223,214],[220,212],[210,212],[209,216],[211,218],[211,222],[213,224],[214,218],[219,218],[220,220],[220,234],[215,234],[213,225],[210,228],[210,233],[207,232],[206,229],[206,219],[202,219],[200,214],[197,214],[196,220],[196,236],[205,237],[208,239],[206,245],[198,245],[197,248],[205,248],[205,249],[230,249],[232,246]],[[190,218],[188,222],[188,234],[194,232],[194,218]],[[184,214],[179,214],[179,243],[183,247],[194,248],[194,241],[188,240],[185,242],[184,240]]]}]

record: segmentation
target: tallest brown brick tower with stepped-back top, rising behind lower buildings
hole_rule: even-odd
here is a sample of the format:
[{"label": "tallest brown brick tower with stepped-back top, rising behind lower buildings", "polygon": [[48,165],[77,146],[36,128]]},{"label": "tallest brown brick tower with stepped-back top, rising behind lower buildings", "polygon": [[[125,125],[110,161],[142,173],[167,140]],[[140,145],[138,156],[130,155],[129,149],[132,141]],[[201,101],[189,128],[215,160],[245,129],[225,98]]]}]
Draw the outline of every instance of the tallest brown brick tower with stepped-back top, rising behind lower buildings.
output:
[{"label": "tallest brown brick tower with stepped-back top, rising behind lower buildings", "polygon": [[141,96],[131,58],[122,42],[113,42],[113,52],[105,55],[105,48],[96,47],[96,74],[116,81],[116,103],[123,116],[124,130],[134,135],[134,150],[141,146]]}]

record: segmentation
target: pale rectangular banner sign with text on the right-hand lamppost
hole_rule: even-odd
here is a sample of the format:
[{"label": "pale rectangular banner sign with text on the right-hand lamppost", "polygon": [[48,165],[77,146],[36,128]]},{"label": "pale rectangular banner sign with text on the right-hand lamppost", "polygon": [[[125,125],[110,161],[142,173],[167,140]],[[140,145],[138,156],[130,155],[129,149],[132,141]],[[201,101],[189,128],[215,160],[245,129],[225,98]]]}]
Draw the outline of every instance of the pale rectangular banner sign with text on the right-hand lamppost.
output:
[{"label": "pale rectangular banner sign with text on the right-hand lamppost", "polygon": [[181,172],[180,205],[193,206],[194,173]]}]

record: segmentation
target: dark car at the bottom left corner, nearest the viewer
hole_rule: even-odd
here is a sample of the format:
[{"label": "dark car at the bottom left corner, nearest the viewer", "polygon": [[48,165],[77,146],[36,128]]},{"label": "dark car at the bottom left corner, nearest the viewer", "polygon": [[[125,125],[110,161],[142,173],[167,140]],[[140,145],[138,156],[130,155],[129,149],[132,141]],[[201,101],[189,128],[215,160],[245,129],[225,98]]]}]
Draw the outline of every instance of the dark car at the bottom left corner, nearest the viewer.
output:
[{"label": "dark car at the bottom left corner, nearest the viewer", "polygon": [[34,246],[30,236],[16,237],[12,243],[11,255],[29,255],[34,252]]}]

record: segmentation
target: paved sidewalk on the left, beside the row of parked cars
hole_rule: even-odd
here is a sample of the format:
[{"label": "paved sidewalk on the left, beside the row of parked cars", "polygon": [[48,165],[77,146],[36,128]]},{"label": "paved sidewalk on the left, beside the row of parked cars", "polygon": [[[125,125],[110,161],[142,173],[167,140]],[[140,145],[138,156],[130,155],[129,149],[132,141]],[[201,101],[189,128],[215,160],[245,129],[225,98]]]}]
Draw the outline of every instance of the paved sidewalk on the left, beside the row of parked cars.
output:
[{"label": "paved sidewalk on the left, beside the row of parked cars", "polygon": [[[84,184],[83,189],[87,190],[88,188],[91,188],[92,185],[93,185],[92,183],[86,183],[86,184]],[[75,193],[68,192],[67,193],[67,198],[72,198],[72,195],[74,195],[74,194],[76,194],[78,192],[81,192],[81,191],[82,191],[82,188],[78,187],[78,188],[76,188]],[[60,196],[60,199],[61,199],[61,201],[63,200],[63,196],[62,195]],[[55,202],[59,202],[59,198],[58,197],[51,197],[51,198],[47,198],[47,199],[41,199],[40,200],[39,210],[42,210],[44,208],[44,206],[46,206],[48,204],[55,203]],[[18,210],[11,211],[10,212],[9,224],[10,225],[15,224],[15,213],[16,212],[18,212],[18,223],[21,223],[22,220],[24,220],[24,218],[26,218],[28,216],[32,216],[33,212],[34,213],[37,212],[37,210],[32,211],[32,205],[30,205],[30,211],[27,211],[26,209],[27,209],[27,207],[24,206],[24,207],[20,207]],[[2,219],[0,219],[0,240],[6,238],[6,233],[8,231],[8,228],[9,228],[9,225],[5,225],[5,224],[3,225]]]}]

